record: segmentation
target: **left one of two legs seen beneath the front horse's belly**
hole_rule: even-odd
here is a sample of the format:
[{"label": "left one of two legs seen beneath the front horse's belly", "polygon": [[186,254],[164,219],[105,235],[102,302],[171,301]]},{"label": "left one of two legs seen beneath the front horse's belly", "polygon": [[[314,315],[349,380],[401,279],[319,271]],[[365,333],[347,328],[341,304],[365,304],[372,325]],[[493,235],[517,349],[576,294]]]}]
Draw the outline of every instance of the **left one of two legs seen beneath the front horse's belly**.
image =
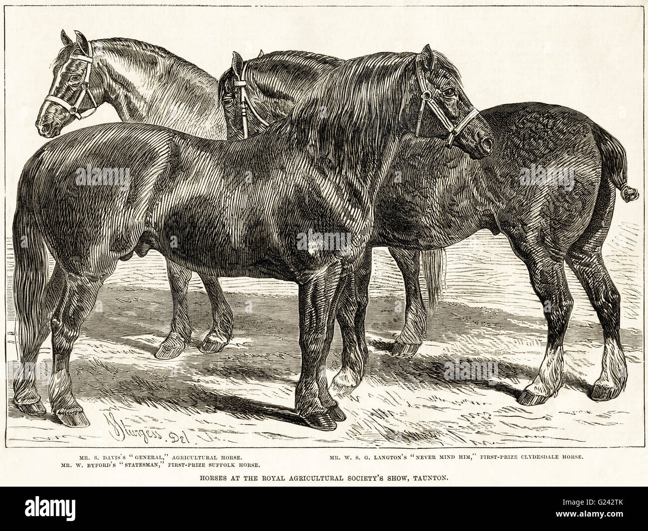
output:
[{"label": "left one of two legs seen beneath the front horse's belly", "polygon": [[173,299],[173,319],[171,331],[157,349],[157,359],[173,359],[191,343],[191,324],[187,311],[187,289],[191,271],[167,260],[167,275]]}]

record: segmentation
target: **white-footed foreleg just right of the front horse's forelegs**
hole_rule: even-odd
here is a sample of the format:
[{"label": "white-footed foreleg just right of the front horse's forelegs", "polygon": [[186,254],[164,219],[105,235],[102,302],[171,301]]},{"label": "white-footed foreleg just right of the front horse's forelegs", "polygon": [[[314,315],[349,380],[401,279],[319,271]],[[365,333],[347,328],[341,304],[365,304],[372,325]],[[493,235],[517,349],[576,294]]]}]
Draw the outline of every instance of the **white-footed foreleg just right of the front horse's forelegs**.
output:
[{"label": "white-footed foreleg just right of the front horse's forelegs", "polygon": [[369,358],[365,334],[365,315],[369,302],[369,279],[371,278],[371,249],[353,275],[347,275],[342,287],[338,323],[342,335],[342,359],[338,374],[331,383],[331,390],[346,396],[360,385]]}]

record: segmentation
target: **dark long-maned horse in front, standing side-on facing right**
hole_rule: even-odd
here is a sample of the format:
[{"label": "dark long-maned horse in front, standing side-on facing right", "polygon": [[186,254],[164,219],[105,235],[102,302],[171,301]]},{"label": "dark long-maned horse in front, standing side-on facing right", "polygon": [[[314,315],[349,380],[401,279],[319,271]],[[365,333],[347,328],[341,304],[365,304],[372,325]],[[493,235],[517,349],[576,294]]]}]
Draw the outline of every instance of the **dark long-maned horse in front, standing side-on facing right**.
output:
[{"label": "dark long-maned horse in front, standing side-on facing right", "polygon": [[[297,283],[302,365],[295,411],[308,427],[335,429],[346,418],[325,372],[336,308],[365,262],[373,201],[400,142],[408,133],[446,137],[473,157],[492,145],[456,69],[440,57],[426,46],[418,54],[345,62],[284,119],[243,141],[118,122],[42,146],[19,179],[12,231],[18,409],[45,412],[34,361],[50,328],[52,412],[66,426],[89,425],[71,388],[71,350],[117,262],[155,249],[203,280]],[[90,177],[85,168],[93,169]],[[115,186],[102,168],[128,168],[130,179]],[[305,234],[345,235],[345,243],[302,245]],[[49,282],[46,247],[56,261]]]}]

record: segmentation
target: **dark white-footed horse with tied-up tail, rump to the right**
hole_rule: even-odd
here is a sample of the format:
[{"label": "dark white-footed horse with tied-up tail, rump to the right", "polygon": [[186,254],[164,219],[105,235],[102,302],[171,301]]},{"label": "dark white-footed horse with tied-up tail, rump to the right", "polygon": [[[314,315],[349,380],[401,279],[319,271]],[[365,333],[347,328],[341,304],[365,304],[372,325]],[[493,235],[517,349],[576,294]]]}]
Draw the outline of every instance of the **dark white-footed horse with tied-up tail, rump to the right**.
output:
[{"label": "dark white-footed horse with tied-up tail, rump to the right", "polygon": [[[295,51],[243,62],[235,52],[232,67],[219,81],[227,137],[261,133],[272,120],[290,112],[295,99],[320,76],[342,63]],[[473,160],[460,150],[435,149],[439,143],[435,139],[407,137],[391,166],[399,179],[386,181],[376,198],[369,246],[402,249],[395,258],[405,281],[406,317],[397,345],[407,345],[413,354],[425,339],[420,251],[441,249],[481,229],[503,232],[529,270],[548,323],[544,360],[517,401],[527,406],[544,403],[562,385],[563,337],[573,305],[564,262],[583,285],[603,327],[601,375],[590,398],[616,398],[627,381],[619,335],[620,296],[601,247],[610,228],[616,188],[626,202],[638,198],[627,183],[625,150],[601,126],[567,107],[528,102],[492,107],[481,114],[494,135],[496,148],[489,157]],[[531,175],[532,170],[542,170],[544,177]],[[349,394],[360,384],[367,362],[369,254],[356,272],[357,297],[341,295],[338,321],[345,346],[332,385],[340,394]]]}]

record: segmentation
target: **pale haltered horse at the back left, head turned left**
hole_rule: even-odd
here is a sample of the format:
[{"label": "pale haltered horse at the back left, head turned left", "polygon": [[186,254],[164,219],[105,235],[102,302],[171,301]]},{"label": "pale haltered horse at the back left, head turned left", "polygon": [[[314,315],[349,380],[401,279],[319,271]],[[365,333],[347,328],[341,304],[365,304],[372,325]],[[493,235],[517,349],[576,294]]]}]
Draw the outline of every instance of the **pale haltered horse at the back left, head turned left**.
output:
[{"label": "pale haltered horse at the back left, head turned left", "polygon": [[[88,41],[81,32],[75,34],[73,41],[65,30],[61,31],[64,48],[54,60],[54,79],[36,120],[41,136],[56,137],[75,119],[85,119],[107,103],[122,122],[155,124],[196,137],[226,139],[216,78],[156,45],[124,38]],[[191,342],[187,312],[191,271],[167,260],[167,275],[173,317],[170,332],[156,352],[159,359],[178,356]],[[217,279],[204,280],[211,299],[222,296]],[[218,352],[229,341],[231,330],[231,311],[220,314],[200,350]]]}]

